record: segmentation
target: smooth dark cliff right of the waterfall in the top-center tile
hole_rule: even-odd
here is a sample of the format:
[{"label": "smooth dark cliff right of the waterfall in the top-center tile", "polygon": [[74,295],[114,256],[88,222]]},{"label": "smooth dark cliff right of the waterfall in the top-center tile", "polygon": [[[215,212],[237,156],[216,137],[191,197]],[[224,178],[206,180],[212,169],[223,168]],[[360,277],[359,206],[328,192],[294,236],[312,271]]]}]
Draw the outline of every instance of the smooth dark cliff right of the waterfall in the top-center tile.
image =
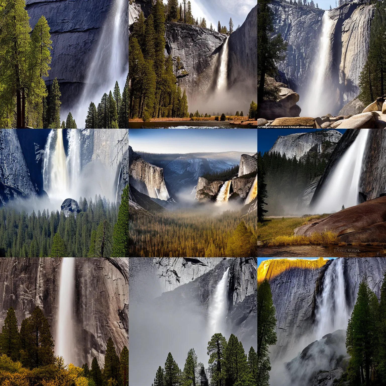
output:
[{"label": "smooth dark cliff right of the waterfall in the top-center tile", "polygon": [[257,5],[244,23],[229,36],[228,85],[248,84],[257,90]]}]

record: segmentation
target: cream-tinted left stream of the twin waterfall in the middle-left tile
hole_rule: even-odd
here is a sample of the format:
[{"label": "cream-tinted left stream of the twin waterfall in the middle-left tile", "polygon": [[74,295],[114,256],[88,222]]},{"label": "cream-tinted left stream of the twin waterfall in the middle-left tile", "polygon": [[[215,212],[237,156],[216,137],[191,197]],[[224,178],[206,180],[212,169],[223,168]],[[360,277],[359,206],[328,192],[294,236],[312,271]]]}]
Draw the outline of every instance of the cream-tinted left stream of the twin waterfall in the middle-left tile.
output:
[{"label": "cream-tinted left stream of the twin waterfall in the middle-left tile", "polygon": [[[52,149],[53,141],[55,147]],[[68,169],[63,145],[63,130],[52,129],[44,149],[43,188],[49,197],[68,194]]]}]

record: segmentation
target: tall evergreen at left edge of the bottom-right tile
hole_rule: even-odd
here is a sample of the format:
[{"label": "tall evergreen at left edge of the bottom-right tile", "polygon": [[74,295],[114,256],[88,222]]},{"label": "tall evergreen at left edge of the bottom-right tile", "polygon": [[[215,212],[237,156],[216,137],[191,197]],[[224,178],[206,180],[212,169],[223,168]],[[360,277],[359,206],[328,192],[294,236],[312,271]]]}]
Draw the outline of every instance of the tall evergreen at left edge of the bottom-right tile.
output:
[{"label": "tall evergreen at left edge of the bottom-right tile", "polygon": [[275,307],[272,302],[271,286],[267,279],[257,286],[257,384],[269,386],[268,346],[276,344]]}]

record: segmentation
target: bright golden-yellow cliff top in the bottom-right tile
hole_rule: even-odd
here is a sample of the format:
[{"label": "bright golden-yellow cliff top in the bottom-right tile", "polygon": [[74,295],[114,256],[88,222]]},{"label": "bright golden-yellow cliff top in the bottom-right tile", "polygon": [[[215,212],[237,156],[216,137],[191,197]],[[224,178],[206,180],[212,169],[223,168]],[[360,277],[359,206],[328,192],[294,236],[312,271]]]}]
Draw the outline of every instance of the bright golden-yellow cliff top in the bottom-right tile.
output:
[{"label": "bright golden-yellow cliff top in the bottom-right tile", "polygon": [[317,269],[323,267],[328,259],[305,260],[305,259],[270,259],[262,261],[257,268],[257,282],[262,283],[264,279],[273,279],[278,274],[291,268]]}]

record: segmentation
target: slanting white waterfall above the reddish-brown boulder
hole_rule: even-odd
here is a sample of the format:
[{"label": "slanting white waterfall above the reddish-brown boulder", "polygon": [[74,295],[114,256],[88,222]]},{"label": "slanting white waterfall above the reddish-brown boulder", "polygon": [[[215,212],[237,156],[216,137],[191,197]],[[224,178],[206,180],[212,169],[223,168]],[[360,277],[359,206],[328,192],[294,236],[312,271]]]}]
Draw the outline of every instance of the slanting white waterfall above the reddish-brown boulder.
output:
[{"label": "slanting white waterfall above the reddish-brown boulder", "polygon": [[369,129],[361,129],[355,141],[345,151],[313,206],[314,213],[337,212],[342,205],[345,208],[357,205],[359,179],[368,135]]}]

